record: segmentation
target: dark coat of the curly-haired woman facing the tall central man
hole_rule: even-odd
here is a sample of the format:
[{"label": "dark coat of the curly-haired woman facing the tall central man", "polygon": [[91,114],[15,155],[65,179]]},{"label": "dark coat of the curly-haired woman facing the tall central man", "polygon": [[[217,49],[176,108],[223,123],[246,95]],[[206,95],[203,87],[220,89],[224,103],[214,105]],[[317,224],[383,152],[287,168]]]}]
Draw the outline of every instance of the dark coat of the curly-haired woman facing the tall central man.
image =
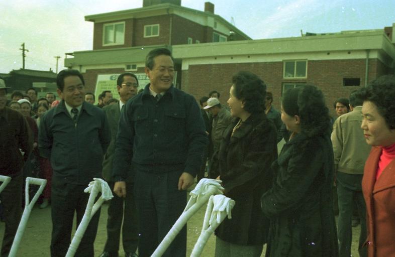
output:
[{"label": "dark coat of the curly-haired woman facing the tall central man", "polygon": [[219,150],[225,195],[236,204],[232,219],[226,218],[216,235],[234,244],[263,244],[269,220],[260,210],[260,197],[271,186],[270,164],[277,157],[276,128],[264,113],[252,114],[231,136],[237,122],[225,130]]}]

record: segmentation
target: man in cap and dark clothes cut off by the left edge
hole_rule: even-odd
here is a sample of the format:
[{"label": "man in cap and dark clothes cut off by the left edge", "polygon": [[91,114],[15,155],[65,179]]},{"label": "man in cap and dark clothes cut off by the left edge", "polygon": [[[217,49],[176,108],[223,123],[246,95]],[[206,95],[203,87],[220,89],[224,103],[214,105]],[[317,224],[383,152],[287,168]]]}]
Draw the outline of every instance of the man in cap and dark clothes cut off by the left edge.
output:
[{"label": "man in cap and dark clothes cut off by the left edge", "polygon": [[8,88],[0,79],[0,175],[11,177],[10,183],[0,194],[6,223],[0,256],[8,256],[21,220],[22,169],[33,149],[33,138],[26,119],[6,106]]}]

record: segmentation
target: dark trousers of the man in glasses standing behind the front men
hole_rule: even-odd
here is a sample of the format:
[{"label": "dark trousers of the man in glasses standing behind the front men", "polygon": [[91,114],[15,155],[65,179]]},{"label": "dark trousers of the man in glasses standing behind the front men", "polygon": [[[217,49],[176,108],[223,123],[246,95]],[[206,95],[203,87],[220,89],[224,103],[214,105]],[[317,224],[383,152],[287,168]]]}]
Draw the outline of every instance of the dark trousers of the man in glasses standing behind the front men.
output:
[{"label": "dark trousers of the man in glasses standing behind the front men", "polygon": [[[109,182],[114,188],[114,182]],[[122,224],[122,220],[124,221]],[[136,203],[133,196],[133,183],[126,183],[126,197],[118,197],[109,201],[107,218],[107,241],[104,250],[117,256],[122,228],[122,245],[125,252],[136,252],[139,234]]]}]

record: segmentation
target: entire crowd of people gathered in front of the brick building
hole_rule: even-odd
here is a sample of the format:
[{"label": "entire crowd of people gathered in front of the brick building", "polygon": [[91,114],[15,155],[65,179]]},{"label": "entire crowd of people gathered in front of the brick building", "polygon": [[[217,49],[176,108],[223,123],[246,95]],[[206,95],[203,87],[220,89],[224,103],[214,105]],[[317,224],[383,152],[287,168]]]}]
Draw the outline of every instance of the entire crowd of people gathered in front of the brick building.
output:
[{"label": "entire crowd of people gathered in front of the brick building", "polygon": [[[65,256],[93,178],[114,191],[100,256],[118,256],[122,234],[125,256],[145,257],[184,210],[196,176],[221,180],[236,202],[215,232],[217,257],[259,257],[264,244],[268,257],[350,256],[352,216],[360,256],[395,256],[394,75],[336,100],[333,118],[314,85],[286,90],[276,110],[265,82],[247,71],[230,79],[227,105],[214,90],[199,107],[174,87],[165,48],[149,52],[145,73],[150,83],[140,92],[137,76],[125,72],[118,97],[104,91],[97,105],[77,70],[59,72],[59,100],[37,99],[34,88],[7,99],[0,79],[0,175],[12,178],[0,194],[0,256],[14,239],[27,176],[48,181],[40,208],[51,204],[51,256]],[[93,256],[99,216],[75,256]],[[185,254],[183,227],[163,256]]]}]

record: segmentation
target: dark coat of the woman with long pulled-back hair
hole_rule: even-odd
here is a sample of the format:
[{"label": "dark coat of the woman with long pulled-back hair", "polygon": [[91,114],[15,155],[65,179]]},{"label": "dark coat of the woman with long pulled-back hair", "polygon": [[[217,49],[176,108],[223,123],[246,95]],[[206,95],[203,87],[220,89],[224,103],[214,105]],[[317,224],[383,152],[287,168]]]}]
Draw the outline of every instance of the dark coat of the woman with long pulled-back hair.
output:
[{"label": "dark coat of the woman with long pulled-back hair", "polygon": [[270,218],[266,256],[338,256],[329,131],[313,137],[298,134],[283,146],[272,168],[273,186],[261,199]]}]

